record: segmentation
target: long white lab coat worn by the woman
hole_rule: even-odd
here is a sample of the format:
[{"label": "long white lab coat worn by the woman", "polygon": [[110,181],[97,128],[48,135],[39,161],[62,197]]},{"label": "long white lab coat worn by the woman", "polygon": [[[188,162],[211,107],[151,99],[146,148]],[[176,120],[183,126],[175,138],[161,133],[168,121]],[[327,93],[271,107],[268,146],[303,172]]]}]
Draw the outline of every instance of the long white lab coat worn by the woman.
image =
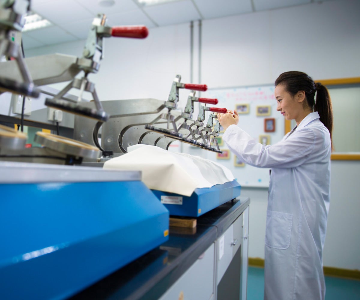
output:
[{"label": "long white lab coat worn by the woman", "polygon": [[[240,119],[241,121],[241,119]],[[265,299],[324,299],[322,251],[330,200],[330,134],[318,112],[264,146],[236,125],[224,141],[246,164],[271,168],[265,234]]]}]

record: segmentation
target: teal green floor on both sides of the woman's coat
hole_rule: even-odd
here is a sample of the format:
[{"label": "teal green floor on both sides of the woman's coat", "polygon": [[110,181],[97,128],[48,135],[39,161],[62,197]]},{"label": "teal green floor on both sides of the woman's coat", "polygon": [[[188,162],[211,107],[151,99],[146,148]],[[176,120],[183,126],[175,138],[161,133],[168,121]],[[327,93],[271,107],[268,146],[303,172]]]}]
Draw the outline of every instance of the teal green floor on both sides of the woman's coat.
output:
[{"label": "teal green floor on both sides of the woman's coat", "polygon": [[[325,276],[325,300],[359,300],[360,281]],[[248,300],[264,299],[264,269],[249,267],[248,270]]]}]

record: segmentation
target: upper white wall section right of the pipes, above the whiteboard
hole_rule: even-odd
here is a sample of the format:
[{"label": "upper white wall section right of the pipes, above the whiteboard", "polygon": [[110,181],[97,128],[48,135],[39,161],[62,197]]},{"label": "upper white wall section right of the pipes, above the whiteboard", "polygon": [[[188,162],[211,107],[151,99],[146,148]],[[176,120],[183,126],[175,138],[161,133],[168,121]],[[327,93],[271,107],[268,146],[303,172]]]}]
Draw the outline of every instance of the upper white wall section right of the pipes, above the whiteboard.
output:
[{"label": "upper white wall section right of the pipes, above the whiteboard", "polygon": [[359,76],[359,1],[325,1],[203,22],[202,78],[211,88],[272,84],[299,70]]}]

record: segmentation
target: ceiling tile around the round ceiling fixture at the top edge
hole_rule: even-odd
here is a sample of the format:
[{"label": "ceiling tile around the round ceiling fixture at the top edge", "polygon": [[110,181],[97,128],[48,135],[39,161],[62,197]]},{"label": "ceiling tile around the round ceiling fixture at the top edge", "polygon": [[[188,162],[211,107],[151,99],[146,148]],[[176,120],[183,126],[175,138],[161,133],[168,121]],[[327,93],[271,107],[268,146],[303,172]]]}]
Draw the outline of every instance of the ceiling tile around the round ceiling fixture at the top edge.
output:
[{"label": "ceiling tile around the round ceiling fixture at the top edge", "polygon": [[76,0],[84,8],[89,10],[94,15],[101,14],[112,14],[112,13],[124,13],[131,10],[139,9],[139,6],[132,0],[117,0],[113,6],[101,6],[99,5],[100,0]]}]

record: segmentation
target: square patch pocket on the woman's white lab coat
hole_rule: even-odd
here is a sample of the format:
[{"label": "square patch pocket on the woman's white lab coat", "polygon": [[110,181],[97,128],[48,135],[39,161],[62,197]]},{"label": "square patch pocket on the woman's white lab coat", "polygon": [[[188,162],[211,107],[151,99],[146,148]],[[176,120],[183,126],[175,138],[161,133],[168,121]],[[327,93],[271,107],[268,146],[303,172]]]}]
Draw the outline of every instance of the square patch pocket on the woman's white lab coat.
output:
[{"label": "square patch pocket on the woman's white lab coat", "polygon": [[276,249],[290,246],[292,214],[268,210],[266,213],[265,245]]}]

